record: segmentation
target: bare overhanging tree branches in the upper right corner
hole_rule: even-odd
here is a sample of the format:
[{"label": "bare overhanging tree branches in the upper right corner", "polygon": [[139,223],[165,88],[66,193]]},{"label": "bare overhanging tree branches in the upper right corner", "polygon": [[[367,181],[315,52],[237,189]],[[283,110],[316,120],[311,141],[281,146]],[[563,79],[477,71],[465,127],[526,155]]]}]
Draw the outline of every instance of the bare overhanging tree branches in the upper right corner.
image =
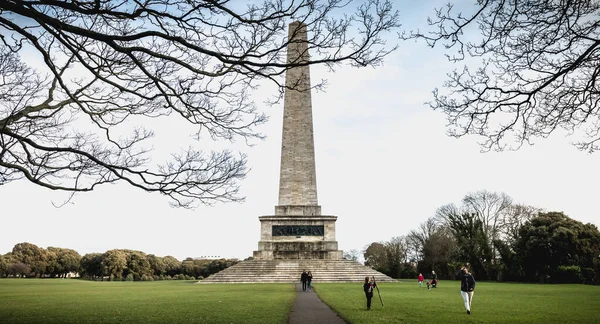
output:
[{"label": "bare overhanging tree branches in the upper right corner", "polygon": [[449,73],[429,103],[447,115],[450,135],[480,135],[484,150],[501,151],[562,128],[578,148],[598,150],[600,1],[479,0],[468,8],[436,9],[431,31],[404,35],[466,59],[469,67]]}]

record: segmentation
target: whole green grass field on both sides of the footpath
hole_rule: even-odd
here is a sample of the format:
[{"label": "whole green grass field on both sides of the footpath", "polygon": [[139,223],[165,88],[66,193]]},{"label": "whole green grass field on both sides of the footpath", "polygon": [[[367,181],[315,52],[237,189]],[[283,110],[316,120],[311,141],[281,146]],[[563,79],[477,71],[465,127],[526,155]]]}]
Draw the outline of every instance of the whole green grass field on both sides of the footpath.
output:
[{"label": "whole green grass field on both sides of the footpath", "polygon": [[[366,311],[361,284],[315,283],[350,323],[600,323],[600,287],[477,283],[467,315],[458,282],[430,291],[380,284]],[[1,279],[0,323],[285,323],[290,284],[198,285],[195,281],[90,282]]]}]

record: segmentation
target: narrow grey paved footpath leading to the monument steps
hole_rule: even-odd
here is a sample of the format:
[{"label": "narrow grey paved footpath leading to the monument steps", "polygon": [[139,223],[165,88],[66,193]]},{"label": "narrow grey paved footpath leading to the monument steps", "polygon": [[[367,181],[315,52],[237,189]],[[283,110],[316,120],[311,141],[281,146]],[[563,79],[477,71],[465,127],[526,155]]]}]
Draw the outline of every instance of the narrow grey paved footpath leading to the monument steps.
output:
[{"label": "narrow grey paved footpath leading to the monument steps", "polygon": [[290,313],[290,324],[346,324],[313,292],[302,291],[296,284],[296,300]]}]

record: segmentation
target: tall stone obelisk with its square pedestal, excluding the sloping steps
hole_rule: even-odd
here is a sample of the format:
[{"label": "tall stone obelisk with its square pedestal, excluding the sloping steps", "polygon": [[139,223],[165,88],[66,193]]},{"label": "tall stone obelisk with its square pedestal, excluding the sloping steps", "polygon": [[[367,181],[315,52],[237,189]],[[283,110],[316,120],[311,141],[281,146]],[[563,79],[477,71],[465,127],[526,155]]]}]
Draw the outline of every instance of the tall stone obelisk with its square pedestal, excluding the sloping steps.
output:
[{"label": "tall stone obelisk with its square pedestal, excluding the sloping steps", "polygon": [[321,215],[313,138],[306,25],[289,25],[279,178],[275,215],[259,217],[261,235],[254,258],[342,259],[335,239],[336,216]]}]

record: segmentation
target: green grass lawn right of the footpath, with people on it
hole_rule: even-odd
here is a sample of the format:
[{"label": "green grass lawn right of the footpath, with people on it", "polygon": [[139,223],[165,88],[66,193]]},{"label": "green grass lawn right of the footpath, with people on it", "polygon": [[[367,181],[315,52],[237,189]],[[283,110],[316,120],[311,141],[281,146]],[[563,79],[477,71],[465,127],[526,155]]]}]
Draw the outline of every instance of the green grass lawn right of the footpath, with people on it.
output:
[{"label": "green grass lawn right of the footpath, with people on it", "polygon": [[438,288],[417,281],[381,283],[371,310],[361,284],[314,284],[319,297],[346,321],[358,323],[600,323],[600,287],[478,282],[467,315],[458,281]]}]

